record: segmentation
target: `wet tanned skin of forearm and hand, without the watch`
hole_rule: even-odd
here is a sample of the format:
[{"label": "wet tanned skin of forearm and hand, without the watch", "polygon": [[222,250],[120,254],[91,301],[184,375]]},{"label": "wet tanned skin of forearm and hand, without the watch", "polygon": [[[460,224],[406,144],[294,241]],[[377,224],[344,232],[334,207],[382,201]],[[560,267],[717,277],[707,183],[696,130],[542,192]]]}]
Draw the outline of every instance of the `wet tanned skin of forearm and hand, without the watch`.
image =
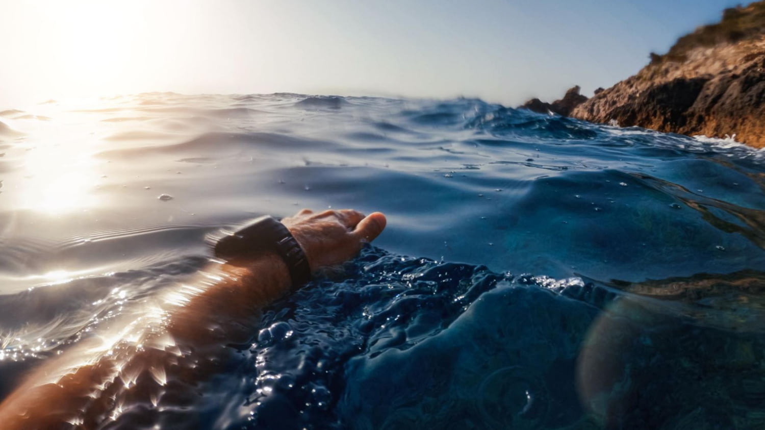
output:
[{"label": "wet tanned skin of forearm and hand, without the watch", "polygon": [[[382,233],[386,217],[379,212],[365,217],[356,210],[304,209],[282,223],[314,271],[356,256],[363,243]],[[262,308],[290,291],[287,266],[276,255],[211,263],[156,306],[114,324],[116,330],[109,335],[80,342],[34,370],[0,404],[0,426],[96,428],[119,409],[118,393],[145,389],[135,384],[140,375],[151,374],[161,386],[165,370],[178,368],[180,360],[193,355],[190,351],[236,340],[257,324]],[[199,373],[179,371],[174,377],[194,380]]]}]

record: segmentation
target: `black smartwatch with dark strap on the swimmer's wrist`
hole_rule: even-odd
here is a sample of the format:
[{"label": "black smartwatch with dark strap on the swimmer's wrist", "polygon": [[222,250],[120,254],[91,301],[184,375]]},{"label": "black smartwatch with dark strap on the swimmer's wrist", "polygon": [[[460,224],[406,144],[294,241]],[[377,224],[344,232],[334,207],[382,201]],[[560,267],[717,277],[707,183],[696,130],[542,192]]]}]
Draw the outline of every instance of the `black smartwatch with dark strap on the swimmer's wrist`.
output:
[{"label": "black smartwatch with dark strap on the swimmer's wrist", "polygon": [[226,261],[253,258],[268,252],[275,252],[287,264],[292,288],[311,280],[305,252],[287,227],[274,217],[256,218],[243,229],[223,236],[214,247],[216,258]]}]

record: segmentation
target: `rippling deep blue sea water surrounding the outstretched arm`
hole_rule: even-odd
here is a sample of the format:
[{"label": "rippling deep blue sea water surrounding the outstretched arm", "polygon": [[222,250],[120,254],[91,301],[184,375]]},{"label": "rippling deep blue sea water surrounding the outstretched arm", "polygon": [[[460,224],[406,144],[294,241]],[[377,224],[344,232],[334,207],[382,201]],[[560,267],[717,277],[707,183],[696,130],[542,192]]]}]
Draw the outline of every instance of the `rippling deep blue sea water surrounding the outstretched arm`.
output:
[{"label": "rippling deep blue sea water surrounding the outstretched arm", "polygon": [[0,396],[191,279],[208,234],[351,207],[388,216],[374,246],[99,428],[763,428],[763,160],[479,99],[9,108]]}]

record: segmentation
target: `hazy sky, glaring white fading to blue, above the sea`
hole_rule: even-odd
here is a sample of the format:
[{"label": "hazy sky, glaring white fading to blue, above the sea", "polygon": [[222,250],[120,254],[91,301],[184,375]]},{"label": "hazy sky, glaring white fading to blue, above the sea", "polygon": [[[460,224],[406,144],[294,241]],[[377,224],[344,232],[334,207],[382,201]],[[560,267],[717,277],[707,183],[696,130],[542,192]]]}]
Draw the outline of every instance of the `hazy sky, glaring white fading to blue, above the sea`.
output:
[{"label": "hazy sky, glaring white fading to blue, above the sea", "polygon": [[0,109],[177,93],[590,95],[728,0],[0,0]]}]

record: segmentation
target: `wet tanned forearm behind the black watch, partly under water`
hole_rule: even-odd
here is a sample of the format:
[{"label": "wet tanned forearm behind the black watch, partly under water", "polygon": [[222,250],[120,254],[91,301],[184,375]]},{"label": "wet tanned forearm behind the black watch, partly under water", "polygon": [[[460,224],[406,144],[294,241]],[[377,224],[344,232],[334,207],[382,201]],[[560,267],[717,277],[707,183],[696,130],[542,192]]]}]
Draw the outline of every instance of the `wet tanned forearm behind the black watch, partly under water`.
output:
[{"label": "wet tanned forearm behind the black watch, partly under water", "polygon": [[[199,349],[211,342],[235,341],[259,311],[290,289],[284,262],[263,256],[246,265],[210,265],[193,282],[180,285],[161,298],[166,327],[141,327],[137,343],[152,345],[137,352],[135,344],[99,344],[100,338],[78,345],[62,357],[44,364],[0,404],[2,428],[49,428],[62,422],[89,422],[108,410],[109,393],[130,386],[135,375],[152,366],[164,368],[174,353],[157,340],[170,334],[173,347]],[[164,309],[162,309],[164,308]],[[156,312],[145,306],[144,314]],[[139,313],[140,314],[140,313]],[[148,318],[151,320],[152,318]],[[115,324],[123,329],[129,323]],[[103,334],[103,338],[116,336]],[[127,376],[126,376],[127,374]],[[95,399],[101,399],[96,402]]]}]

